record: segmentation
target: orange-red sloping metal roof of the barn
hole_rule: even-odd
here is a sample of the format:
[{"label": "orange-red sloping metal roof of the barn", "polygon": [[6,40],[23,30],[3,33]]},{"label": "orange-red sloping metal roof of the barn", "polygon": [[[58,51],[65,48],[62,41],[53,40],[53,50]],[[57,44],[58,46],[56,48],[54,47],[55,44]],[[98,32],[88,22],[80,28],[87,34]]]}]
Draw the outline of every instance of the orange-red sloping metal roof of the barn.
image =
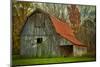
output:
[{"label": "orange-red sloping metal roof of the barn", "polygon": [[71,41],[76,46],[86,47],[86,45],[83,45],[83,43],[75,38],[73,30],[71,29],[69,24],[60,21],[54,16],[50,16],[50,18],[58,34],[60,34],[65,39]]}]

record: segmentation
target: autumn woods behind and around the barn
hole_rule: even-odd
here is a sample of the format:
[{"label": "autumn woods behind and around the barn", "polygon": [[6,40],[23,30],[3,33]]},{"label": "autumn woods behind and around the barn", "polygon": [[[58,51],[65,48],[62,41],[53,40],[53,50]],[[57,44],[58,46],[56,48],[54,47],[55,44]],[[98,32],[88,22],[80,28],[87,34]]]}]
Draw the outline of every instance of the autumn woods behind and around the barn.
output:
[{"label": "autumn woods behind and around the barn", "polygon": [[19,54],[21,29],[27,17],[36,8],[41,8],[45,12],[56,16],[58,19],[69,23],[73,30],[76,31],[74,32],[76,37],[89,46],[88,51],[95,53],[96,9],[94,6],[14,1],[12,4],[13,54]]}]

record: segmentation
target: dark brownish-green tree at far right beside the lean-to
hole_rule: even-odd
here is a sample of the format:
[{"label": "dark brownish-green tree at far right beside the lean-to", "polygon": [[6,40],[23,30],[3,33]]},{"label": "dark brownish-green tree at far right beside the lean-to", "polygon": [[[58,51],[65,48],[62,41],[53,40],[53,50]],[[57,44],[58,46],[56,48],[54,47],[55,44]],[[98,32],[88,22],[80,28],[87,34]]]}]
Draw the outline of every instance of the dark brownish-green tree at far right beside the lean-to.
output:
[{"label": "dark brownish-green tree at far right beside the lean-to", "polygon": [[88,53],[95,55],[96,50],[96,24],[95,21],[85,19],[76,33],[76,37],[88,46]]}]

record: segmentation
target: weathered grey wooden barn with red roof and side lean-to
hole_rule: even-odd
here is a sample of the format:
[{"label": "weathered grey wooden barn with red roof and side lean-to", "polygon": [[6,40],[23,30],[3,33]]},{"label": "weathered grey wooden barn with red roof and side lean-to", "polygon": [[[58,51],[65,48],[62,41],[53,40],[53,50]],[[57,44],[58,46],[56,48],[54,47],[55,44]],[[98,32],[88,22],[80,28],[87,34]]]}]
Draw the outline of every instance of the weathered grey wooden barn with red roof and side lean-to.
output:
[{"label": "weathered grey wooden barn with red roof and side lean-to", "polygon": [[20,54],[33,57],[81,56],[87,52],[71,34],[71,28],[56,17],[36,9],[25,22],[20,35]]}]

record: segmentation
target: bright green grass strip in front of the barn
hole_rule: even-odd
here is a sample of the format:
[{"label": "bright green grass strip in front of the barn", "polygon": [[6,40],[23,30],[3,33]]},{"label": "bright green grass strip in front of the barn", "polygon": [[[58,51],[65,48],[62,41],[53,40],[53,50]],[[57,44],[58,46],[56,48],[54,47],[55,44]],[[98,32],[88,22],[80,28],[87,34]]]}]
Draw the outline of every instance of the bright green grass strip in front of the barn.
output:
[{"label": "bright green grass strip in front of the barn", "polygon": [[13,57],[12,64],[16,65],[37,65],[37,64],[54,64],[69,62],[95,61],[94,57],[58,57],[58,58],[18,58]]}]

